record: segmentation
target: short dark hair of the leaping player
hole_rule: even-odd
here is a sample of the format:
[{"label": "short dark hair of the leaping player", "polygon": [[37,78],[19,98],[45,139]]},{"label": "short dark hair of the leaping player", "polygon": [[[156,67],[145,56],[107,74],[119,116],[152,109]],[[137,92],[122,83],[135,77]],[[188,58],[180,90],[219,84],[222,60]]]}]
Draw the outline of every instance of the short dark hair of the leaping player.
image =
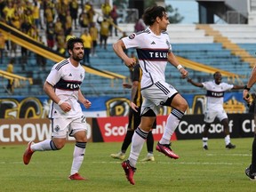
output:
[{"label": "short dark hair of the leaping player", "polygon": [[156,21],[156,17],[163,18],[165,9],[162,6],[148,7],[142,15],[142,19],[147,26],[153,25]]}]

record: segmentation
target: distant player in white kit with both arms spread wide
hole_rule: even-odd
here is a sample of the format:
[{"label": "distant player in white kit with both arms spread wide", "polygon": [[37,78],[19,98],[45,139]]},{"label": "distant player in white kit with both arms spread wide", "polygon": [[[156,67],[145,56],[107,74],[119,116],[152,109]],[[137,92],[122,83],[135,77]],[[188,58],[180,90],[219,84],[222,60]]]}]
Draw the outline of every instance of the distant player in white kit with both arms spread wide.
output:
[{"label": "distant player in white kit with both arms spread wide", "polygon": [[208,130],[211,128],[211,124],[217,117],[220,123],[224,127],[225,145],[226,148],[236,148],[230,141],[230,132],[228,129],[228,116],[223,108],[223,97],[226,91],[244,89],[243,85],[227,84],[221,82],[221,74],[219,71],[213,74],[213,81],[204,83],[196,83],[191,78],[188,78],[188,82],[197,87],[203,87],[206,92],[206,108],[204,111],[204,132],[203,132],[203,148],[208,150]]}]

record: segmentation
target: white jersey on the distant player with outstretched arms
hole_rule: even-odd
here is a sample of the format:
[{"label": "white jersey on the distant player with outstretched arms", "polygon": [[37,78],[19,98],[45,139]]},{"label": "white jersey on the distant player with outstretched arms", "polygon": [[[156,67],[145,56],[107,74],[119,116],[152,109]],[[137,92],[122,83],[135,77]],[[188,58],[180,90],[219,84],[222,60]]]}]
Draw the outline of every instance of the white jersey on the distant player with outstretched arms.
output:
[{"label": "white jersey on the distant player with outstretched arms", "polygon": [[224,93],[231,90],[234,84],[220,83],[215,84],[215,81],[202,83],[206,92],[207,103],[206,108],[222,109]]}]

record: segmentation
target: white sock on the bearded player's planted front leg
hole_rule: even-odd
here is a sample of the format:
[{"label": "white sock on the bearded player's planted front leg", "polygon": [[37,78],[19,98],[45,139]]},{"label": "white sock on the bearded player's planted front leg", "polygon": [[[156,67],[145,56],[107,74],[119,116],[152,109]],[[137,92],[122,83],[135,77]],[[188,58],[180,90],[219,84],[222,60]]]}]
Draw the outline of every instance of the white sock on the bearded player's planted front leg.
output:
[{"label": "white sock on the bearded player's planted front leg", "polygon": [[[85,146],[86,143],[80,142],[81,145],[83,145],[83,148],[75,146],[74,153],[73,153],[73,163],[71,166],[71,172],[70,175],[75,174],[79,171],[81,165],[84,161],[84,153],[85,153]],[[76,142],[77,145],[77,142]]]}]

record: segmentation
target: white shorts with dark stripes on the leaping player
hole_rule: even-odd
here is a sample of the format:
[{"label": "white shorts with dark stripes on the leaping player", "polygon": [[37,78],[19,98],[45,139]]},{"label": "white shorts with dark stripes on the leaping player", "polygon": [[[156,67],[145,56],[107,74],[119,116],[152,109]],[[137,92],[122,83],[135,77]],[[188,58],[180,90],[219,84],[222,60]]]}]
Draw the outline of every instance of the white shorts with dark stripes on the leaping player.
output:
[{"label": "white shorts with dark stripes on the leaping player", "polygon": [[175,93],[177,93],[177,90],[166,82],[156,82],[156,84],[153,84],[147,89],[141,90],[143,102],[140,115],[145,114],[150,108],[157,115],[158,106],[165,103],[165,101]]}]

